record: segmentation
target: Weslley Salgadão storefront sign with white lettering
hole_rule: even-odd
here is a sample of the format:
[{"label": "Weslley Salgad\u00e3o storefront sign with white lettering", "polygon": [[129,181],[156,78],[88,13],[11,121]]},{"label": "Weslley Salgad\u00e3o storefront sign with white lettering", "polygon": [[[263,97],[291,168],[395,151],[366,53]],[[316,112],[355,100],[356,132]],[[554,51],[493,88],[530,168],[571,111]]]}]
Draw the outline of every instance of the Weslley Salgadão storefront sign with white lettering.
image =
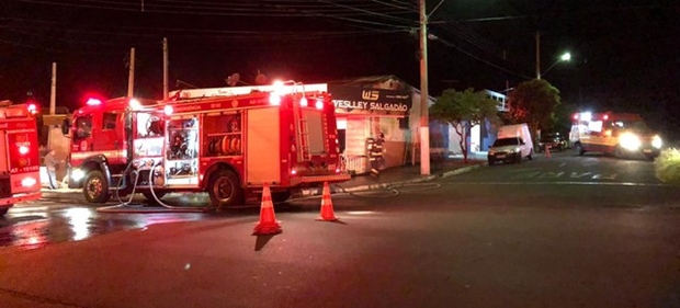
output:
[{"label": "Weslley Salgad\u00e3o storefront sign with white lettering", "polygon": [[411,109],[408,91],[365,89],[349,85],[328,85],[339,114],[407,115]]}]

